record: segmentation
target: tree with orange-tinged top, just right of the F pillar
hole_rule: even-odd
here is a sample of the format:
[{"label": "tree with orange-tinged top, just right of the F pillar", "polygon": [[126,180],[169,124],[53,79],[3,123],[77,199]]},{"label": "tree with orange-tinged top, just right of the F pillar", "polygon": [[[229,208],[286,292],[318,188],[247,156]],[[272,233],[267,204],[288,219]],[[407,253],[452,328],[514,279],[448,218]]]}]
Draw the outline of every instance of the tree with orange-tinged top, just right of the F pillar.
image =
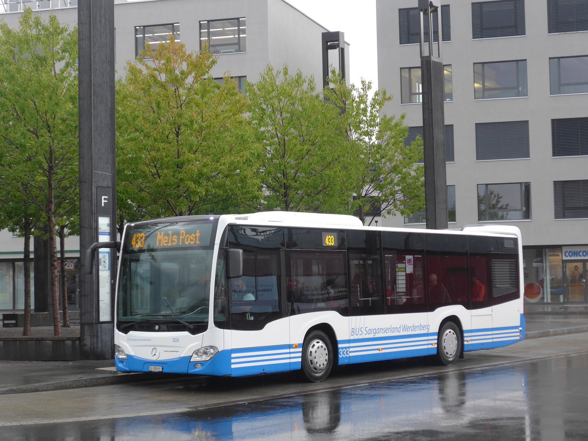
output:
[{"label": "tree with orange-tinged top, just right of the F pillar", "polygon": [[216,58],[170,37],[117,83],[117,199],[125,219],[235,212],[260,185],[246,99]]}]

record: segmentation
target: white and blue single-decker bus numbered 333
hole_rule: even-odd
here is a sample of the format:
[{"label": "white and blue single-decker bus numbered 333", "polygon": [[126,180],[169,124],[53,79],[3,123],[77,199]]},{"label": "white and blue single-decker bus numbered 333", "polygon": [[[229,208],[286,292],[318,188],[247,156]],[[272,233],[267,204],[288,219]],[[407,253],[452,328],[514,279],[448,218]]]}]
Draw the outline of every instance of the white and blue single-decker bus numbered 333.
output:
[{"label": "white and blue single-decker bus numbered 333", "polygon": [[319,382],[336,366],[420,356],[453,365],[524,338],[514,226],[258,212],[128,223],[118,245],[122,372],[298,370]]}]

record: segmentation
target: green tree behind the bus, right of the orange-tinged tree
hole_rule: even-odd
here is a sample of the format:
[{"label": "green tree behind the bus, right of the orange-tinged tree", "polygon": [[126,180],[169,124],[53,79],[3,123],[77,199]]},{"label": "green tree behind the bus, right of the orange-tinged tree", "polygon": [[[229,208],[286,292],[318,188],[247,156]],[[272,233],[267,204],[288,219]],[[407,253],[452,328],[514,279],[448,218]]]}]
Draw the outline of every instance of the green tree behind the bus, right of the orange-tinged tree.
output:
[{"label": "green tree behind the bus, right of the orange-tinged tree", "polygon": [[312,77],[268,66],[248,84],[249,112],[262,150],[261,209],[343,213],[348,207],[349,143],[339,110]]}]

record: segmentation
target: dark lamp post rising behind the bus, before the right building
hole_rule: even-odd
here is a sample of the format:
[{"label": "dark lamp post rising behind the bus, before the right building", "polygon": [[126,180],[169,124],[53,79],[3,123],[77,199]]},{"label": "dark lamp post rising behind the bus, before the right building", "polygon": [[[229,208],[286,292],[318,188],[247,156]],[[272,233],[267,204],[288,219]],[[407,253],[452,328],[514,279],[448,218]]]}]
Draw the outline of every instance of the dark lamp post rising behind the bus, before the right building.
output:
[{"label": "dark lamp post rising behind the bus, before the right building", "polygon": [[[433,42],[433,12],[437,12],[437,44]],[[427,228],[447,228],[445,159],[445,79],[441,60],[441,13],[436,0],[419,0],[420,67],[423,85],[423,149],[425,156],[425,215]],[[429,41],[425,42],[425,19]]]}]

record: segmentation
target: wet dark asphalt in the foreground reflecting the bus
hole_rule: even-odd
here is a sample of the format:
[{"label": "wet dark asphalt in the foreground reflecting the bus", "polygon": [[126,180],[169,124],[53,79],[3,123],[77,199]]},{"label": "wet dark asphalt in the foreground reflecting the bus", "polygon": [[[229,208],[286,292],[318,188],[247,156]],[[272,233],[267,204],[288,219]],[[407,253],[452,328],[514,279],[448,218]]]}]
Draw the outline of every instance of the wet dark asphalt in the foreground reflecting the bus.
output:
[{"label": "wet dark asphalt in the foreground reflecting the bus", "polygon": [[[165,387],[185,389],[173,382]],[[215,393],[230,385],[193,387]],[[255,378],[250,387],[273,386]],[[101,389],[86,391],[99,396]],[[0,439],[585,440],[587,396],[588,353],[580,353],[188,412],[4,426]]]}]

